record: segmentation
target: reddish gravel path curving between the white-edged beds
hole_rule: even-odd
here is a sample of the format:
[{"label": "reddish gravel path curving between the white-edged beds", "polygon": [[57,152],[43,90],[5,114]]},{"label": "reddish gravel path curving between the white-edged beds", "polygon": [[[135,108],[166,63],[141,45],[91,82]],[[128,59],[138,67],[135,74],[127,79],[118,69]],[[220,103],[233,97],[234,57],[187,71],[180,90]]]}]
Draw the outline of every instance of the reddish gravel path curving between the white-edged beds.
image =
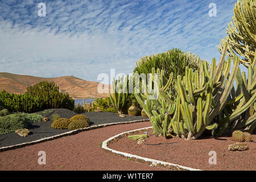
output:
[{"label": "reddish gravel path curving between the white-edged beds", "polygon": [[[114,135],[148,126],[150,122],[108,126],[0,152],[0,170],[161,170],[108,154],[98,147]],[[38,164],[39,151],[46,152],[46,165]]]}]

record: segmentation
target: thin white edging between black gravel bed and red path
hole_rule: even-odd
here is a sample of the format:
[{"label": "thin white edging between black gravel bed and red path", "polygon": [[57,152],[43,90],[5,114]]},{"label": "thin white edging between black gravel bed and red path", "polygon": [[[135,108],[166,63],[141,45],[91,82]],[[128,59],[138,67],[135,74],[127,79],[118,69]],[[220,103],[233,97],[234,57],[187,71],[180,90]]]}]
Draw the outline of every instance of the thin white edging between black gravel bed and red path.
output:
[{"label": "thin white edging between black gravel bed and red path", "polygon": [[148,119],[139,119],[139,120],[135,120],[135,121],[115,122],[115,123],[106,123],[106,124],[101,124],[101,125],[89,126],[89,127],[83,128],[83,129],[68,131],[66,133],[62,133],[62,134],[55,135],[52,137],[35,140],[32,142],[26,142],[26,143],[15,144],[13,146],[1,147],[0,152],[13,150],[15,148],[21,148],[21,147],[25,147],[25,146],[30,146],[32,144],[42,143],[42,142],[46,142],[48,140],[53,140],[53,139],[57,139],[57,138],[61,138],[61,137],[67,137],[69,135],[75,135],[82,131],[94,130],[94,129],[99,129],[101,127],[107,127],[107,126],[113,126],[113,125],[125,125],[125,124],[130,124],[130,123],[138,123],[138,122],[146,122],[146,121],[149,121],[149,120]]}]

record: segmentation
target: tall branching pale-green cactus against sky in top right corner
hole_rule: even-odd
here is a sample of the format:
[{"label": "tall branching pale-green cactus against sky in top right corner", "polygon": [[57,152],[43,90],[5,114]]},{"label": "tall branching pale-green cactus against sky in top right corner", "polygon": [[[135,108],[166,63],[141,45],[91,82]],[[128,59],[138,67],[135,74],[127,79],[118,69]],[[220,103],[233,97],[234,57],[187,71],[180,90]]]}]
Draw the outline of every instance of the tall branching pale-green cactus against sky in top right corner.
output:
[{"label": "tall branching pale-green cactus against sky in top right corner", "polygon": [[226,27],[228,35],[221,40],[218,49],[222,52],[225,42],[228,42],[228,54],[243,56],[241,63],[249,67],[256,48],[256,1],[238,0],[234,6],[233,22]]}]

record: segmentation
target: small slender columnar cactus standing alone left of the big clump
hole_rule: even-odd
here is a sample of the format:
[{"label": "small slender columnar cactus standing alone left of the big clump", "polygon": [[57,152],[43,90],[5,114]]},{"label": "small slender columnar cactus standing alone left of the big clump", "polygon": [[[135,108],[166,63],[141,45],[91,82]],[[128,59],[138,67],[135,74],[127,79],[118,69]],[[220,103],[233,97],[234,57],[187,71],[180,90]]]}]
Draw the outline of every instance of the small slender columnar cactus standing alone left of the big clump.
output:
[{"label": "small slender columnar cactus standing alone left of the big clump", "polygon": [[118,77],[118,80],[115,80],[113,78],[113,97],[110,95],[110,101],[112,102],[113,106],[115,107],[115,109],[117,109],[118,114],[123,114],[123,107],[126,104],[127,101],[127,97],[129,94],[128,91],[128,82],[129,82],[129,76],[127,75],[127,77],[125,78],[125,81],[123,81],[123,76]]}]

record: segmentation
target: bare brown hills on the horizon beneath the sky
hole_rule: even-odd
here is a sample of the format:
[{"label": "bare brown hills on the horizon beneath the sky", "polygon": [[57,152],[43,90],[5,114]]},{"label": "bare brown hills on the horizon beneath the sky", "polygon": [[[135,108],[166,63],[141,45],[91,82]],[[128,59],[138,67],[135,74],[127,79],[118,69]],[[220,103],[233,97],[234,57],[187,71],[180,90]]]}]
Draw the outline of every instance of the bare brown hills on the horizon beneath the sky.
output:
[{"label": "bare brown hills on the horizon beneath the sky", "polygon": [[109,96],[108,93],[100,94],[97,92],[98,82],[86,81],[73,76],[43,78],[12,73],[0,73],[0,91],[6,90],[9,93],[21,94],[27,91],[28,86],[44,80],[55,82],[61,92],[68,93],[73,99]]}]

